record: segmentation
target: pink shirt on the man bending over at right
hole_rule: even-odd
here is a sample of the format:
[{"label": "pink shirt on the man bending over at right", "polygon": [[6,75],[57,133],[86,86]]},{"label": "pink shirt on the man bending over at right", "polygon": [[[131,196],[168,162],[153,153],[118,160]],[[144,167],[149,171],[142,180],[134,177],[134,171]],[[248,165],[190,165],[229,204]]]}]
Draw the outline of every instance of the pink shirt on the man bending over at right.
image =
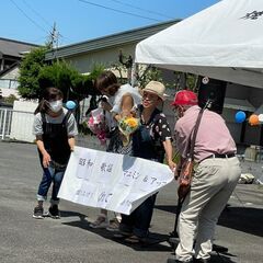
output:
[{"label": "pink shirt on the man bending over at right", "polygon": [[[198,106],[190,107],[175,124],[176,150],[187,157],[190,135],[199,113]],[[193,134],[192,134],[193,136]],[[205,110],[196,136],[194,159],[201,162],[213,153],[236,153],[237,147],[224,118],[209,110]]]}]

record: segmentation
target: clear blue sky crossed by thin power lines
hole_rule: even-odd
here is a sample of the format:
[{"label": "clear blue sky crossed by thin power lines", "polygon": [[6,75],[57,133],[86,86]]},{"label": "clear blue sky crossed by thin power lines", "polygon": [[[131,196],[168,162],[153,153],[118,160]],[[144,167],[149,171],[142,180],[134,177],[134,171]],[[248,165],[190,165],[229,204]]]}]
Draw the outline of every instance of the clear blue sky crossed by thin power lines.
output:
[{"label": "clear blue sky crossed by thin power lines", "polygon": [[75,44],[172,19],[219,0],[1,0],[0,37],[44,44],[56,23],[58,45]]}]

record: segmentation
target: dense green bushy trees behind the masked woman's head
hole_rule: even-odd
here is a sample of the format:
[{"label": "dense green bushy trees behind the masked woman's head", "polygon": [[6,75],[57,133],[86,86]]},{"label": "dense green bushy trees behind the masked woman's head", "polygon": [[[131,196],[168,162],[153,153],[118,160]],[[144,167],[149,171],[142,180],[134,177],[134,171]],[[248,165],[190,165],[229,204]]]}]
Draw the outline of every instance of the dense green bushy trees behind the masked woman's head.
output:
[{"label": "dense green bushy trees behind the masked woman's head", "polygon": [[19,77],[19,93],[22,98],[41,99],[43,90],[47,87],[60,89],[65,101],[79,102],[89,95],[98,95],[93,80],[102,72],[102,66],[94,66],[89,76],[82,76],[64,60],[47,64],[45,61],[47,50],[48,47],[38,47],[23,58]]}]

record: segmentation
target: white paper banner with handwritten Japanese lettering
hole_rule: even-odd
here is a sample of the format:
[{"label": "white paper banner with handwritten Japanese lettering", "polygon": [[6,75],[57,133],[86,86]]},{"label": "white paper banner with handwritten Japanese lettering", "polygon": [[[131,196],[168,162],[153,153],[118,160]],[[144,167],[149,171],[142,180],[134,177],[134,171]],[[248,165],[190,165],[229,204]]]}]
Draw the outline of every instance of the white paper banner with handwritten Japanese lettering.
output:
[{"label": "white paper banner with handwritten Japanese lettering", "polygon": [[75,147],[58,197],[129,215],[172,180],[173,173],[168,165]]}]

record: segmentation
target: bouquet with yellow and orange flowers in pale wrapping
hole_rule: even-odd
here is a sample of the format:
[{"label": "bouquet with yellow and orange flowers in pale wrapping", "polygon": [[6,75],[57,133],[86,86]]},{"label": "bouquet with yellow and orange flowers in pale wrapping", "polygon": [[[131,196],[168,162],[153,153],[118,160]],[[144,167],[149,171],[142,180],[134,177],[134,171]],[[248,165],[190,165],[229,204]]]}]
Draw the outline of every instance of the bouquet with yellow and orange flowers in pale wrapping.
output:
[{"label": "bouquet with yellow and orange flowers in pale wrapping", "polygon": [[118,129],[124,135],[123,145],[129,144],[130,135],[139,127],[139,118],[126,116],[118,122]]}]

